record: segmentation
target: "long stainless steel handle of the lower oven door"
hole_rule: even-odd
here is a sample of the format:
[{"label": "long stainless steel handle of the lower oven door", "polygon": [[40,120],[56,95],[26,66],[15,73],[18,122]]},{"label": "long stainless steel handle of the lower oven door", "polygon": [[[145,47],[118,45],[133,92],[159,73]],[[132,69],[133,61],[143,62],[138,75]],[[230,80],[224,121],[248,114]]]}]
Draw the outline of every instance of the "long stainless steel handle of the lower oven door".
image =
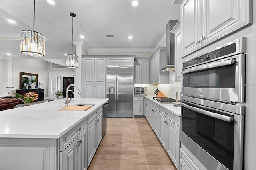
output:
[{"label": "long stainless steel handle of the lower oven door", "polygon": [[217,113],[214,113],[214,112],[211,112],[211,111],[206,111],[206,110],[203,110],[203,109],[199,109],[197,107],[189,106],[189,105],[184,104],[184,103],[181,103],[181,105],[190,109],[190,110],[193,110],[193,111],[196,111],[198,113],[201,113],[201,114],[204,114],[204,115],[207,115],[207,116],[210,116],[210,117],[214,117],[216,119],[220,119],[220,120],[223,120],[223,121],[232,122],[234,120],[232,117],[225,116],[225,115],[220,115],[220,114],[217,114]]}]

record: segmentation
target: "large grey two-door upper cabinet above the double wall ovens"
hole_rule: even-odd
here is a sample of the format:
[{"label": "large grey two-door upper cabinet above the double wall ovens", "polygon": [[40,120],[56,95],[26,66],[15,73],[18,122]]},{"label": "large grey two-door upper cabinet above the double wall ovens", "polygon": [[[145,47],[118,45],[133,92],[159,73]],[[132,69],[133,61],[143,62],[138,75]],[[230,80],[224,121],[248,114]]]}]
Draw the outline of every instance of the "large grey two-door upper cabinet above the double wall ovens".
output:
[{"label": "large grey two-door upper cabinet above the double wall ovens", "polygon": [[252,23],[252,0],[184,0],[182,57]]}]

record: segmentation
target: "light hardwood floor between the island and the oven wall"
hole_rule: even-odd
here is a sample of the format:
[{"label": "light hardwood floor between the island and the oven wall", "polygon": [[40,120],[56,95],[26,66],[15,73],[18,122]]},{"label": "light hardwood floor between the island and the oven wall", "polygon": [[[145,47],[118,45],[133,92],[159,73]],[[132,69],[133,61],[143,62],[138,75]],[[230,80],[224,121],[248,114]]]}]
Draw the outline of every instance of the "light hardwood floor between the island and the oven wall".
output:
[{"label": "light hardwood floor between the island and the oven wall", "polygon": [[176,170],[145,118],[108,118],[88,170]]}]

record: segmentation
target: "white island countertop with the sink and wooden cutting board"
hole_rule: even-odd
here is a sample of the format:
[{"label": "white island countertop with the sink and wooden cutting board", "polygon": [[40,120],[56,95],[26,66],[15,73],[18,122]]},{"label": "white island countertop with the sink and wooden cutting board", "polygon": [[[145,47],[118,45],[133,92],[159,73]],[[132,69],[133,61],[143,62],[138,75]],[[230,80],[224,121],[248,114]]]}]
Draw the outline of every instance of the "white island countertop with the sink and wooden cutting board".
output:
[{"label": "white island countertop with the sink and wooden cutting board", "polygon": [[96,104],[86,111],[58,111],[65,99],[0,111],[2,138],[60,138],[108,99],[74,98],[68,106],[79,103]]}]

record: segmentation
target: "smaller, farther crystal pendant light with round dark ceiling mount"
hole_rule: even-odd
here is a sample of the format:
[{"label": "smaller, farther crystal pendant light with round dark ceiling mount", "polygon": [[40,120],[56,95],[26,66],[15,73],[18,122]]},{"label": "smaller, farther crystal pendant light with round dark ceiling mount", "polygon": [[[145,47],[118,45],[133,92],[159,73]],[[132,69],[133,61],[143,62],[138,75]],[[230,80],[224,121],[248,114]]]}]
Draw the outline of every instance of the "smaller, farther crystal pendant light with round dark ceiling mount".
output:
[{"label": "smaller, farther crystal pendant light with round dark ceiling mount", "polygon": [[78,56],[73,55],[73,25],[74,25],[74,17],[76,14],[70,13],[70,16],[72,16],[72,54],[66,55],[66,67],[67,68],[77,68],[78,67]]}]

